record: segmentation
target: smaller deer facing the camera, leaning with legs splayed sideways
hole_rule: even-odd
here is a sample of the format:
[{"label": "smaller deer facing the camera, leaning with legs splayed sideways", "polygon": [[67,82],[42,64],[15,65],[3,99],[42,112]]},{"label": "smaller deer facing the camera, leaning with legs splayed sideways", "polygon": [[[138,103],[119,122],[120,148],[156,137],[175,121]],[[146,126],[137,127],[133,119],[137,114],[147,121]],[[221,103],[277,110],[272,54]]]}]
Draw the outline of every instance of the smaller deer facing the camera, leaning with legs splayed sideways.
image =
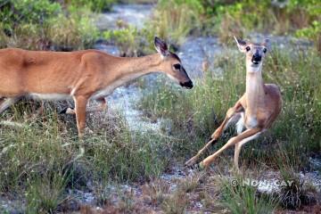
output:
[{"label": "smaller deer facing the camera, leaning with legs splayed sideways", "polygon": [[[262,79],[262,63],[268,52],[268,39],[262,44],[245,42],[235,37],[239,50],[246,55],[246,91],[235,106],[226,112],[226,118],[211,135],[210,141],[197,152],[185,165],[192,166],[210,144],[217,142],[218,137],[232,121],[237,121],[238,136],[234,136],[217,152],[204,159],[200,166],[207,168],[218,155],[228,147],[235,145],[235,167],[238,167],[238,158],[242,145],[257,138],[271,126],[282,108],[281,93],[278,86],[264,84]],[[243,131],[243,128],[246,128]]]}]

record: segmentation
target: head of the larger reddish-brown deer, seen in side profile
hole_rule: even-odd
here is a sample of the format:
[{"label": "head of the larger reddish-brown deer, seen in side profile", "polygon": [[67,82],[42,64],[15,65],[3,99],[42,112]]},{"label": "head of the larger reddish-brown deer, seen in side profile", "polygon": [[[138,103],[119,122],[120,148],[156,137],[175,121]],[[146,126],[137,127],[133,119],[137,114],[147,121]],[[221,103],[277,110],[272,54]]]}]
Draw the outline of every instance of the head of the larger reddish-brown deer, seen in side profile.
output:
[{"label": "head of the larger reddish-brown deer, seen in side profile", "polygon": [[169,51],[168,45],[159,37],[154,39],[155,49],[161,54],[161,71],[174,79],[180,86],[192,88],[193,82],[188,77],[181,60],[176,53]]}]

